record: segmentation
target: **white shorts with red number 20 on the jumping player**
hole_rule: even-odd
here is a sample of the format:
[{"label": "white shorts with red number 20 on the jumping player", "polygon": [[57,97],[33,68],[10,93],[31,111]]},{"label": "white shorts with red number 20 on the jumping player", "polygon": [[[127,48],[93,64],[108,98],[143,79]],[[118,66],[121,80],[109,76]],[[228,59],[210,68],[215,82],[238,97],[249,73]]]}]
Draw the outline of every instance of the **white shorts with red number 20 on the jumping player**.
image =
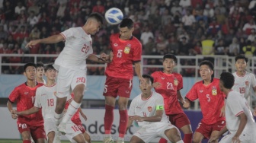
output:
[{"label": "white shorts with red number 20 on the jumping player", "polygon": [[59,67],[57,77],[57,97],[68,97],[78,84],[86,87],[86,71],[75,71],[69,68]]}]

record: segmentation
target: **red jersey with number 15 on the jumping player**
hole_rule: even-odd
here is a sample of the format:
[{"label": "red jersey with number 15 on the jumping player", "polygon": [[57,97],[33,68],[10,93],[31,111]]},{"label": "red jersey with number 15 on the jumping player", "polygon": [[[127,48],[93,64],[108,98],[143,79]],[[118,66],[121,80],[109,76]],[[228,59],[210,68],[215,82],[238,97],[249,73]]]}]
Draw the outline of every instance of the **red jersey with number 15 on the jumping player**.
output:
[{"label": "red jersey with number 15 on the jumping player", "polygon": [[110,36],[110,49],[113,51],[113,61],[107,64],[105,74],[114,78],[133,78],[133,62],[140,62],[142,44],[136,37],[121,40],[119,33]]}]

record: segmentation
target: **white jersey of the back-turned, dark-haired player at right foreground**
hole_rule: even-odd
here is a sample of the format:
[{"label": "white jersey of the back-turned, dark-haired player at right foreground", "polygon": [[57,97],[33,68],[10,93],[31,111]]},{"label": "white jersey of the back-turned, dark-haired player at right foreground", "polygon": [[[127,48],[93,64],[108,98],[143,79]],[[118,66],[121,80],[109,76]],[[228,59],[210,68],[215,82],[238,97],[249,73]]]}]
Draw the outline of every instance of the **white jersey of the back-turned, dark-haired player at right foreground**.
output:
[{"label": "white jersey of the back-turned, dark-haired player at right foreground", "polygon": [[250,106],[248,106],[248,102],[237,91],[230,91],[227,95],[225,113],[226,126],[227,129],[229,129],[229,132],[237,132],[240,123],[238,116],[241,113],[245,113],[247,116],[247,123],[243,132],[255,131],[256,133],[256,124]]}]

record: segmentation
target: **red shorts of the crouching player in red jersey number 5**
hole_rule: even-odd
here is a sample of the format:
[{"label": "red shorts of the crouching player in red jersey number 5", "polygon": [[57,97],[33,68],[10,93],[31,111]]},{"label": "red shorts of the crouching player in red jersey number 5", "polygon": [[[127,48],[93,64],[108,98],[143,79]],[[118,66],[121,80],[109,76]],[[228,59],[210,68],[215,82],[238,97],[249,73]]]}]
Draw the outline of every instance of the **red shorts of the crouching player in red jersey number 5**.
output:
[{"label": "red shorts of the crouching player in red jersey number 5", "polygon": [[226,126],[225,120],[220,120],[213,125],[206,125],[204,122],[199,122],[195,132],[200,132],[204,138],[210,138],[213,131],[220,131]]}]

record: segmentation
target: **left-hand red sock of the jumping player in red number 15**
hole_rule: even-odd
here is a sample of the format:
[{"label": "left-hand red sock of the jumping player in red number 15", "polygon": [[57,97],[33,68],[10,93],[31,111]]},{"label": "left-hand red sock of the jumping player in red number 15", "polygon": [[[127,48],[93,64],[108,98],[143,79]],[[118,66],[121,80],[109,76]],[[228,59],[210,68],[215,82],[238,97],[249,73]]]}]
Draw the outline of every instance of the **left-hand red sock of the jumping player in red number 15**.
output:
[{"label": "left-hand red sock of the jumping player in red number 15", "polygon": [[114,106],[105,105],[104,129],[105,134],[111,133],[111,127],[114,122]]}]

